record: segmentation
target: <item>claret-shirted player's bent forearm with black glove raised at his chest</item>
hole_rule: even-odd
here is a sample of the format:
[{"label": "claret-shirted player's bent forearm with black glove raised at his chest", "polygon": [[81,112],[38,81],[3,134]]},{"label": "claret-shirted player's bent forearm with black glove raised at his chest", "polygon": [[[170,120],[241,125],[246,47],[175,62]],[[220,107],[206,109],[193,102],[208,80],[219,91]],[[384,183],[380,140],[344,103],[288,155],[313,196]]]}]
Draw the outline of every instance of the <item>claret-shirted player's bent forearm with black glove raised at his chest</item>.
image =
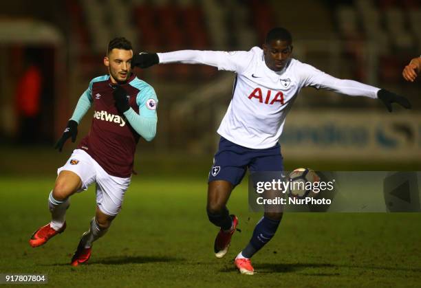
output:
[{"label": "claret-shirted player's bent forearm with black glove raised at his chest", "polygon": [[[124,88],[117,86],[113,91],[114,100],[116,100],[117,110],[124,114],[127,121],[135,129],[135,131],[144,138],[144,140],[152,141],[156,135],[156,124],[158,122],[158,117],[155,113],[141,113],[138,114],[133,108],[130,107],[129,102],[127,101],[127,92]],[[141,111],[141,107],[139,107]]]}]

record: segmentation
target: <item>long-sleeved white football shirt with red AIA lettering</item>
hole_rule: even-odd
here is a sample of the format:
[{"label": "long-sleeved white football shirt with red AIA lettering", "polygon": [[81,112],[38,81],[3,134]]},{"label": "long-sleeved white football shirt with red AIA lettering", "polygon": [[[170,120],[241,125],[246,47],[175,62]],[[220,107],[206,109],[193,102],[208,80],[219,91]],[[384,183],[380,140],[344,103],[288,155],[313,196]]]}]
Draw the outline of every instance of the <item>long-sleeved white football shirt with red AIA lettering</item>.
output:
[{"label": "long-sleeved white football shirt with red AIA lettering", "polygon": [[302,87],[328,89],[349,96],[377,98],[379,88],[334,78],[291,58],[282,71],[266,66],[263,50],[222,52],[181,50],[158,53],[160,63],[215,66],[237,74],[230,102],[217,133],[230,142],[263,149],[277,144],[285,117]]}]

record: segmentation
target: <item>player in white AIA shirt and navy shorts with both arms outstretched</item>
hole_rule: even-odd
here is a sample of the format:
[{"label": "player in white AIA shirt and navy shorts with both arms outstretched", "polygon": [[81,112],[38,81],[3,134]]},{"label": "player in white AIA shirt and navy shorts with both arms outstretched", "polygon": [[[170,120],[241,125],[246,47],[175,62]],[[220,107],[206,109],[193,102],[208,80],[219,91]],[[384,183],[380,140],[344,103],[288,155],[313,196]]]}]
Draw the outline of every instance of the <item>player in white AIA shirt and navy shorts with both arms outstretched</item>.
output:
[{"label": "player in white AIA shirt and navy shorts with both arms outstretched", "polygon": [[[285,117],[302,87],[378,98],[389,111],[393,102],[407,109],[411,107],[406,98],[395,93],[353,80],[334,78],[292,58],[292,36],[281,27],[268,32],[263,49],[140,53],[133,56],[132,65],[147,68],[176,62],[205,64],[236,74],[233,98],[217,131],[221,139],[208,179],[208,219],[220,228],[214,243],[217,258],[228,251],[238,224],[237,217],[228,212],[226,203],[247,168],[251,172],[283,170],[278,140]],[[250,242],[235,258],[239,272],[254,273],[250,258],[272,239],[281,218],[281,212],[264,213]]]}]

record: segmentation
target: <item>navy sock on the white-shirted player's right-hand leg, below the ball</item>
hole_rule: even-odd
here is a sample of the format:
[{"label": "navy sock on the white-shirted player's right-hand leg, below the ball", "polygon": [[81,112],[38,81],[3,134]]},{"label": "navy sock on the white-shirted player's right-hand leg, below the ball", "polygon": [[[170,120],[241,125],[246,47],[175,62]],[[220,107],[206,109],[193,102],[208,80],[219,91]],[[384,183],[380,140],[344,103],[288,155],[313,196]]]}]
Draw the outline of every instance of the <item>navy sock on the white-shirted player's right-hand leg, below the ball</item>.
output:
[{"label": "navy sock on the white-shirted player's right-hand leg, below the ball", "polygon": [[279,223],[281,223],[281,220],[272,220],[267,217],[260,219],[255,227],[255,231],[253,231],[250,242],[241,254],[246,258],[251,258],[257,251],[261,250],[272,239],[275,232],[277,232]]}]

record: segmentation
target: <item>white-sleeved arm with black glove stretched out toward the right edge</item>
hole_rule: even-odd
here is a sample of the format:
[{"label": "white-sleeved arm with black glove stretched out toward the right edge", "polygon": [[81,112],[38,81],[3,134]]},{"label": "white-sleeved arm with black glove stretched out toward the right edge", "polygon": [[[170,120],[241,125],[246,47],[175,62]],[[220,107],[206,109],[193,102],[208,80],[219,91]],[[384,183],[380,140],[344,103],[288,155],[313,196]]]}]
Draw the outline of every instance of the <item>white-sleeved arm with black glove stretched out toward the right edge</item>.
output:
[{"label": "white-sleeved arm with black glove stretched out toward the right edge", "polygon": [[389,112],[392,111],[392,103],[398,103],[406,109],[411,109],[411,103],[407,98],[400,96],[386,89],[380,89],[370,85],[366,85],[354,80],[339,79],[329,74],[325,74],[318,69],[311,67],[308,69],[309,74],[307,75],[306,86],[316,87],[317,89],[327,89],[342,93],[348,96],[365,96],[373,99],[380,99],[387,107]]}]

